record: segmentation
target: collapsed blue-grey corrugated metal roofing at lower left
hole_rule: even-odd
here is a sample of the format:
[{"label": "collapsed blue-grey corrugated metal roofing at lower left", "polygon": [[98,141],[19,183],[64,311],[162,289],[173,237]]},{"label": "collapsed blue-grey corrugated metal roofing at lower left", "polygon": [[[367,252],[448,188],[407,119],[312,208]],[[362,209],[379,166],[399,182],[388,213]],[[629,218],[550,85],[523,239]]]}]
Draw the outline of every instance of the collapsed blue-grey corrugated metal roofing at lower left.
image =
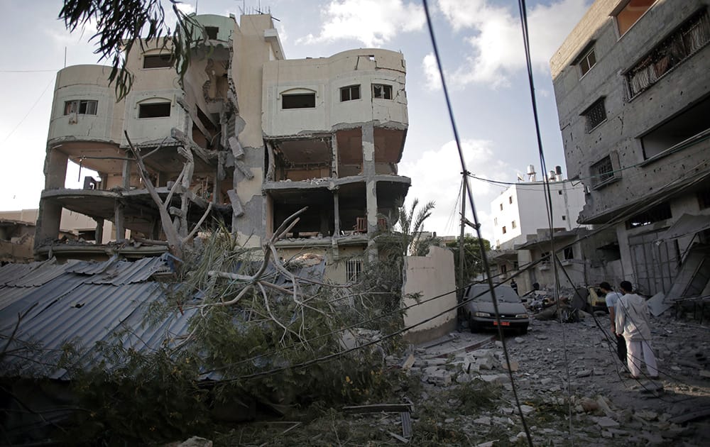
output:
[{"label": "collapsed blue-grey corrugated metal roofing at lower left", "polygon": [[[306,267],[300,274],[317,276],[323,268],[324,265]],[[34,348],[21,351],[21,357],[6,355],[0,363],[0,375],[67,379],[67,371],[57,369],[67,342],[84,352],[79,360],[84,366],[107,360],[97,343],[117,341],[118,334],[124,347],[136,351],[175,346],[187,335],[190,318],[197,309],[176,312],[155,324],[146,321],[151,303],[165,298],[158,282],[150,281],[151,275],[162,271],[170,271],[170,258],[165,255],[132,263],[109,260],[0,267],[0,278],[21,275],[20,279],[15,277],[13,282],[0,285],[0,334],[8,337],[17,329],[7,352],[23,346],[21,341],[36,343]],[[37,277],[33,277],[34,272]],[[288,285],[288,278],[282,277],[278,282]],[[18,325],[20,314],[23,319]],[[222,376],[218,372],[204,377],[219,380]]]}]

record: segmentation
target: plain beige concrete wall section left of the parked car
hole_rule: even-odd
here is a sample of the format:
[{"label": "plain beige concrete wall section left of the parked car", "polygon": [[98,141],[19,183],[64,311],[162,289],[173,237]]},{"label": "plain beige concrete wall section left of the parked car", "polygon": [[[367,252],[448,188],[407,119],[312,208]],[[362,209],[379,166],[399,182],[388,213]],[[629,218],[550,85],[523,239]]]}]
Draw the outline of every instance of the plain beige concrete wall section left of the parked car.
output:
[{"label": "plain beige concrete wall section left of the parked car", "polygon": [[[404,317],[405,326],[420,323],[446,309],[453,309],[405,332],[405,338],[410,343],[421,343],[454,331],[457,324],[457,310],[454,307],[457,302],[453,253],[432,245],[427,256],[407,256],[405,265],[403,294],[420,293],[422,300],[442,295],[408,309]],[[411,306],[415,303],[415,299],[405,299],[403,304]]]}]

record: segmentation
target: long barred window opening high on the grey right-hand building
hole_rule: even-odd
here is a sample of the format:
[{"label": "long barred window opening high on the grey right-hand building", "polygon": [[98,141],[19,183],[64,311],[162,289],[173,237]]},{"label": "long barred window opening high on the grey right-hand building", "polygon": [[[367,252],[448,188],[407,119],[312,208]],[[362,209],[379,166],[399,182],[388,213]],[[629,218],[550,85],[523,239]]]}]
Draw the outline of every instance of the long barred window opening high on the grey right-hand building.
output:
[{"label": "long barred window opening high on the grey right-hand building", "polygon": [[626,72],[629,99],[698,52],[710,42],[710,21],[705,10],[691,16]]}]

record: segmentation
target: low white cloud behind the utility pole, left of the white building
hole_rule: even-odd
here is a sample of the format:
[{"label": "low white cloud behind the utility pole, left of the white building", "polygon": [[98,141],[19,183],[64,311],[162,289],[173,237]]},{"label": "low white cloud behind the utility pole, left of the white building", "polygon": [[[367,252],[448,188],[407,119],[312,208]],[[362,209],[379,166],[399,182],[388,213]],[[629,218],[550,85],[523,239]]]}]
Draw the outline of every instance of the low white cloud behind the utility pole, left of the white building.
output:
[{"label": "low white cloud behind the utility pole, left of the white building", "polygon": [[[508,164],[496,158],[491,141],[463,140],[461,146],[466,160],[466,169],[476,177],[496,178],[501,180],[503,172],[511,172]],[[407,205],[413,199],[420,204],[433,200],[436,208],[425,223],[426,231],[436,231],[439,236],[459,233],[459,212],[461,202],[461,162],[455,141],[449,141],[437,150],[427,150],[417,160],[403,160],[399,165],[401,175],[412,178],[412,186],[407,194]],[[448,172],[448,175],[443,173]],[[446,179],[446,180],[442,180]],[[483,237],[493,236],[492,223],[489,221],[491,201],[498,196],[501,188],[480,180],[469,179],[469,186],[474,195],[476,214],[481,222]],[[467,199],[466,199],[467,200]],[[466,202],[466,216],[471,219],[471,208]],[[467,233],[473,233],[471,228]]]}]

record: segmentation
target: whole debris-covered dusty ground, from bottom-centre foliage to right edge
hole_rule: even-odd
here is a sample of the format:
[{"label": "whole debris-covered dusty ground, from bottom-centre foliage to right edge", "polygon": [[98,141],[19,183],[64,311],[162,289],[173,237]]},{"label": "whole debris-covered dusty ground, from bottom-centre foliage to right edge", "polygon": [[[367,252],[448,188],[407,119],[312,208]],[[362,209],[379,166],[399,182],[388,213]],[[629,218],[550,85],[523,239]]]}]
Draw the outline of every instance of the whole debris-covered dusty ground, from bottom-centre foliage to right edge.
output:
[{"label": "whole debris-covered dusty ground, from bottom-centre foliage to right edge", "polygon": [[[604,329],[608,319],[599,317]],[[672,315],[653,320],[661,377],[626,378],[604,333],[579,323],[532,321],[506,337],[515,390],[535,446],[706,446],[710,444],[709,327]],[[525,446],[501,342],[461,331],[402,358],[403,379],[387,402],[411,404],[411,435],[397,412],[320,409],[309,419],[243,426],[217,445]],[[569,387],[567,386],[569,377]],[[571,419],[570,419],[571,414]],[[696,416],[696,417],[692,417]],[[688,421],[682,419],[686,417]],[[238,441],[238,442],[237,442]]]}]

